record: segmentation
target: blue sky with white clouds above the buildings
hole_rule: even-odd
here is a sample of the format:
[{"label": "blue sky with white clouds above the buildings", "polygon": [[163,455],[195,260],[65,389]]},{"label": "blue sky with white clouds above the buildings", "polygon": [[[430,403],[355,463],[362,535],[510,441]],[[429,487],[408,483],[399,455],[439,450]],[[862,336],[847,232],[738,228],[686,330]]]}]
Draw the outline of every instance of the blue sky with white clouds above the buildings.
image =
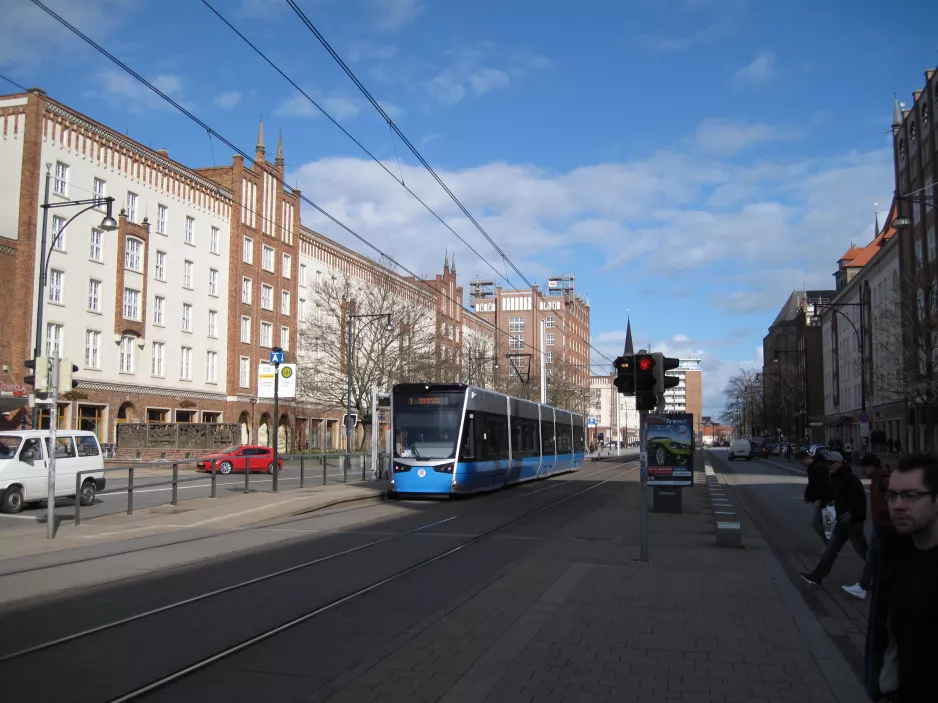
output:
[{"label": "blue sky with white clouds above the buildings", "polygon": [[[466,288],[492,275],[201,2],[47,4],[242,149],[263,114],[290,181],[411,270],[438,272],[448,247]],[[285,0],[212,4],[398,172],[387,124]],[[298,4],[529,280],[577,275],[599,349],[621,350],[631,314],[638,344],[703,359],[705,414],[735,369],[761,363],[793,287],[829,286],[851,241],[872,237],[893,188],[892,95],[911,102],[938,65],[924,1]],[[5,75],[187,165],[228,161],[28,0],[0,11]],[[407,185],[520,283],[396,146]]]}]

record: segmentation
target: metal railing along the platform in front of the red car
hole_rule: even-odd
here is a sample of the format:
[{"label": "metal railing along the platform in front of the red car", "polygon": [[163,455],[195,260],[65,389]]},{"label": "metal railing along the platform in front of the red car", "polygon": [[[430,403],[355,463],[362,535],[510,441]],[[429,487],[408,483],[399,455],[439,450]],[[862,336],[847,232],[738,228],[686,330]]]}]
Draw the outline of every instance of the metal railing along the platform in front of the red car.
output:
[{"label": "metal railing along the platform in front of the red car", "polygon": [[[325,486],[329,482],[329,468],[330,460],[332,464],[340,464],[342,469],[342,483],[348,483],[349,476],[353,469],[352,466],[349,466],[345,462],[345,454],[286,454],[280,455],[280,460],[285,464],[287,462],[299,461],[300,463],[300,488],[306,487],[306,469],[307,464],[319,464],[322,467],[322,485]],[[368,466],[367,461],[370,458],[370,454],[367,453],[356,453],[351,455],[351,461],[353,464],[357,463],[361,467],[361,480],[367,481],[368,479]],[[251,457],[231,457],[230,459],[225,459],[219,461],[217,459],[212,460],[211,468],[211,497],[217,498],[217,481],[220,474],[218,468],[221,464],[231,463],[231,470],[226,473],[221,473],[222,476],[227,476],[230,473],[235,473],[237,470],[244,471],[244,492],[251,492],[251,474],[252,473],[270,473],[268,470],[248,470],[248,462]],[[102,469],[86,469],[79,471],[75,474],[75,525],[81,524],[81,487],[84,484],[85,480],[90,476],[114,473],[117,471],[126,471],[127,472],[127,515],[134,514],[134,472],[138,469],[152,469],[152,468],[165,468],[167,466],[172,466],[172,478],[168,481],[162,481],[158,483],[146,483],[142,487],[156,488],[158,486],[171,485],[172,486],[172,496],[170,498],[171,505],[177,505],[179,502],[179,485],[185,483],[191,483],[194,481],[201,481],[204,479],[204,476],[193,476],[191,478],[179,478],[179,467],[192,465],[196,466],[202,463],[200,459],[183,459],[183,460],[161,460],[161,461],[151,461],[151,462],[138,462],[136,464],[130,464],[127,466],[114,466],[114,467],[105,467]],[[339,467],[336,467],[339,468]],[[357,468],[357,467],[356,467]],[[281,468],[282,472],[283,469]],[[375,475],[374,478],[380,478],[380,473]],[[109,495],[113,495],[108,493]],[[116,492],[115,492],[116,494]]]}]

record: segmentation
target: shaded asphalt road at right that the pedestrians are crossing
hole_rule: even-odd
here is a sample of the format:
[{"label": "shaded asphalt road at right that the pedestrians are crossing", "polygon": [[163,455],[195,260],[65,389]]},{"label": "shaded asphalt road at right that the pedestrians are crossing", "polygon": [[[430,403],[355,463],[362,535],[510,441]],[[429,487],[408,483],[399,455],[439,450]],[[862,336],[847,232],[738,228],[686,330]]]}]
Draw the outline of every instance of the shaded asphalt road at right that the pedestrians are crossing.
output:
[{"label": "shaded asphalt road at right that the pedestrians are crossing", "polygon": [[[869,600],[857,600],[844,593],[841,587],[852,586],[859,581],[863,561],[848,544],[841,550],[833,570],[820,588],[806,586],[799,576],[799,572],[814,569],[824,550],[820,538],[811,529],[812,506],[804,503],[807,484],[804,469],[794,460],[788,464],[780,457],[727,462],[726,450],[711,450],[711,455],[724,462],[732,474],[736,485],[733,490],[738,492],[741,507],[748,509],[749,517],[801,591],[805,602],[854,673],[862,679]],[[868,483],[864,481],[864,484]]]}]

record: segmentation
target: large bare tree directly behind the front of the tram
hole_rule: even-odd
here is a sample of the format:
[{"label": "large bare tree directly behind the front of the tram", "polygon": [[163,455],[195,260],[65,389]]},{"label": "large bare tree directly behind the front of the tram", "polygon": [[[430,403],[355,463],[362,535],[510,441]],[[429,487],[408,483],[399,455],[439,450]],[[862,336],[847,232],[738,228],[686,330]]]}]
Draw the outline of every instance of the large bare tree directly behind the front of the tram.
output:
[{"label": "large bare tree directly behind the front of the tram", "polygon": [[368,280],[323,278],[311,303],[299,329],[297,396],[325,411],[345,410],[348,316],[358,316],[351,320],[351,397],[364,442],[372,424],[372,388],[437,376],[433,301],[410,291],[389,268],[376,268]]}]

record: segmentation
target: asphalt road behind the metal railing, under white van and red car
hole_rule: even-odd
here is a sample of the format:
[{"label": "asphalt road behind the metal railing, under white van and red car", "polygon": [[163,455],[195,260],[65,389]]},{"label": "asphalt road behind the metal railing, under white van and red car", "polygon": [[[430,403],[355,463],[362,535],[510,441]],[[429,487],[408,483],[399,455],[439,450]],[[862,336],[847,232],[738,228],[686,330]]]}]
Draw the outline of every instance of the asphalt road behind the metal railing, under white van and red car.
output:
[{"label": "asphalt road behind the metal railing, under white van and red car", "polygon": [[[370,459],[365,471],[367,478],[371,477]],[[322,485],[323,472],[322,462],[318,459],[311,459],[305,462],[304,467],[304,485],[315,486]],[[107,488],[99,493],[95,498],[95,504],[83,506],[81,509],[82,519],[97,517],[100,515],[110,515],[112,513],[127,512],[127,472],[113,471],[105,474],[107,476]],[[352,471],[348,474],[348,481],[360,481],[362,477],[360,459],[352,458]],[[326,466],[326,482],[342,483],[344,473],[341,467],[341,460],[330,458]],[[224,497],[229,493],[244,493],[244,473],[232,473],[228,476],[216,476],[216,493],[219,497]],[[153,468],[140,467],[135,471],[134,476],[134,509],[140,510],[155,505],[169,503],[172,500],[172,469],[171,468]],[[211,494],[211,474],[196,471],[192,464],[179,467],[179,500],[189,498],[208,498]],[[185,481],[185,483],[183,483]],[[278,484],[281,490],[290,488],[299,488],[300,486],[300,462],[299,460],[285,461],[283,471],[278,476]],[[269,491],[273,488],[273,477],[266,473],[251,473],[250,490]],[[46,502],[30,504],[23,508],[16,515],[5,515],[0,513],[0,531],[9,531],[23,529],[34,526],[36,522],[46,522]],[[75,515],[75,501],[71,498],[59,498],[55,501],[56,520],[71,520]]]}]

